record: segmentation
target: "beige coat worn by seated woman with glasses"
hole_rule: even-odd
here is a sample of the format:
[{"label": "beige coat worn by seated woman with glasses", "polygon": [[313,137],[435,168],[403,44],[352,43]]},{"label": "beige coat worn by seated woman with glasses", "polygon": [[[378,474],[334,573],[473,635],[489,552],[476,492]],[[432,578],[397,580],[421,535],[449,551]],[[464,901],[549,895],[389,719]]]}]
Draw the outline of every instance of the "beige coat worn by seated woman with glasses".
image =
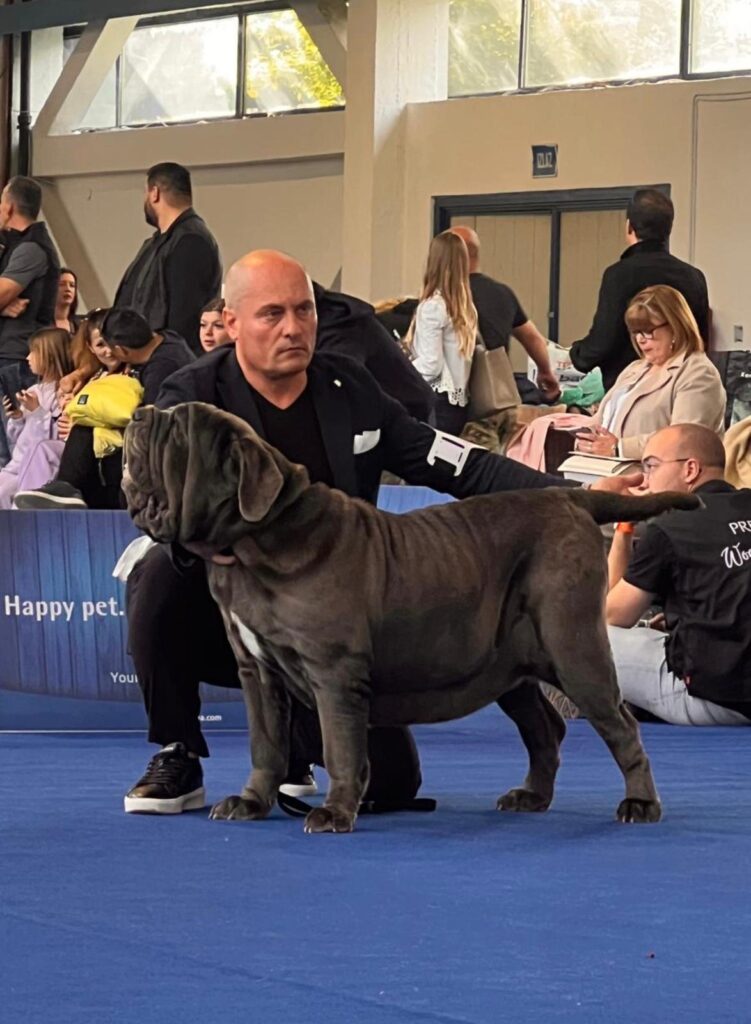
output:
[{"label": "beige coat worn by seated woman with glasses", "polygon": [[630,390],[610,430],[626,459],[640,458],[652,434],[672,423],[701,423],[720,437],[724,432],[725,391],[704,352],[674,355],[662,367],[631,362],[600,402],[595,423],[601,424],[607,402],[623,387]]}]

